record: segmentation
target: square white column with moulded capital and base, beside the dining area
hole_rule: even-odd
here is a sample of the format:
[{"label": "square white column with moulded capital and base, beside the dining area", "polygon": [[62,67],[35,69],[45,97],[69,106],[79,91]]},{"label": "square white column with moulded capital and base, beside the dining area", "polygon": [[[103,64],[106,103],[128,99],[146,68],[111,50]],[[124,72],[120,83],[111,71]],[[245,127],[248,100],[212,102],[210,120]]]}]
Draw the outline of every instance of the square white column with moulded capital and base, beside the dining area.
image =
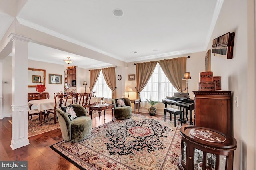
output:
[{"label": "square white column with moulded capital and base, beside the dining area", "polygon": [[31,39],[10,34],[12,41],[12,142],[17,149],[28,142],[28,42]]}]

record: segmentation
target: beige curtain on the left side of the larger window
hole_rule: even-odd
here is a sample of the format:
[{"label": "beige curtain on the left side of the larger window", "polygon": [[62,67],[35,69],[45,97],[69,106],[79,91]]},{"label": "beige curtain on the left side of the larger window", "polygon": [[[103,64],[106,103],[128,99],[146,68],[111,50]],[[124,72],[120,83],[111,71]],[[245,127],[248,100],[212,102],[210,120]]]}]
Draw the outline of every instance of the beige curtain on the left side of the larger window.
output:
[{"label": "beige curtain on the left side of the larger window", "polygon": [[[136,98],[140,99],[140,92],[147,85],[154,69],[156,67],[157,61],[137,63],[136,64]],[[141,100],[140,100],[141,101]]]}]

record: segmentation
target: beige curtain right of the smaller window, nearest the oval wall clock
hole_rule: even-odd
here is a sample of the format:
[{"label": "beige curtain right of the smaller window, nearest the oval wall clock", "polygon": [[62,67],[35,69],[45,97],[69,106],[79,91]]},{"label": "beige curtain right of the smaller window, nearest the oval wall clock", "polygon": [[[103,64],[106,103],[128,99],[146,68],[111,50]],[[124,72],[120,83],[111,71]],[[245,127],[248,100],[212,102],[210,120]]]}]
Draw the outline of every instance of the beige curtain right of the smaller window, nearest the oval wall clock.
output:
[{"label": "beige curtain right of the smaller window, nearest the oval wall clock", "polygon": [[116,69],[115,67],[109,67],[102,69],[103,77],[112,90],[112,99],[116,98]]}]

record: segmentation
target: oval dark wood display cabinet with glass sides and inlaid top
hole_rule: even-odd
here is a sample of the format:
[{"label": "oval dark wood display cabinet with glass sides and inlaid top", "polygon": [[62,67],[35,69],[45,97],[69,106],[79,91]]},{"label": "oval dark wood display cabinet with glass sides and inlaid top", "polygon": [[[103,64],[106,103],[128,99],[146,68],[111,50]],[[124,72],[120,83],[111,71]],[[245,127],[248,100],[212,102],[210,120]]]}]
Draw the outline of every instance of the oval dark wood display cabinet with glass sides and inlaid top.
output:
[{"label": "oval dark wood display cabinet with glass sides and inlaid top", "polygon": [[182,126],[180,170],[232,170],[236,139],[214,129]]}]

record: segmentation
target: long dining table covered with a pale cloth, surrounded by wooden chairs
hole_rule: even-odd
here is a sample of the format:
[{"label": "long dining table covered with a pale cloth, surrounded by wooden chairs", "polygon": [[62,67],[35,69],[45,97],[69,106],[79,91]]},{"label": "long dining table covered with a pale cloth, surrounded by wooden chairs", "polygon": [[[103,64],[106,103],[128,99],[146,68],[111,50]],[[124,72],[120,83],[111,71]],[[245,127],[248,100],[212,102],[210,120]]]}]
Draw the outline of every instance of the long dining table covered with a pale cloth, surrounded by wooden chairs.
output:
[{"label": "long dining table covered with a pale cloth, surrounded by wooden chairs", "polygon": [[[82,101],[81,101],[82,102]],[[100,97],[92,97],[91,103],[97,103],[100,102]],[[70,105],[72,103],[72,99],[68,98],[66,105]],[[28,104],[35,105],[38,107],[38,111],[40,114],[40,126],[42,126],[42,111],[54,109],[55,106],[55,99],[41,99],[41,100],[30,100],[28,101]]]}]

